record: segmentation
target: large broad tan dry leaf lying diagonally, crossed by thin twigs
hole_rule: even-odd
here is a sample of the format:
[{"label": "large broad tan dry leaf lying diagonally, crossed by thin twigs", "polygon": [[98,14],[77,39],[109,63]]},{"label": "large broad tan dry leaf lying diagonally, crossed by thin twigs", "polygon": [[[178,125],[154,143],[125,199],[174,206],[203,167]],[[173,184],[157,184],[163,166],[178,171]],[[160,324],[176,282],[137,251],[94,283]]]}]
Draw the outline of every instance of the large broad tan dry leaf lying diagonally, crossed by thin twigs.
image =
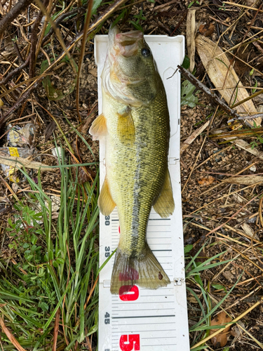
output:
[{"label": "large broad tan dry leaf lying diagonally, crossed by thin twigs", "polygon": [[[237,90],[233,88],[236,84],[238,84],[238,87],[243,87],[243,84],[241,84],[233,66],[230,65],[227,55],[217,44],[208,38],[198,35],[196,37],[196,49],[215,88],[224,88],[219,90],[219,93],[229,105],[249,98],[250,95],[246,89],[238,88]],[[248,100],[237,106],[236,112],[247,115],[257,114],[257,109],[252,100]],[[260,126],[261,120],[259,117],[255,118],[257,126]],[[252,119],[248,119],[248,122],[253,125]]]}]

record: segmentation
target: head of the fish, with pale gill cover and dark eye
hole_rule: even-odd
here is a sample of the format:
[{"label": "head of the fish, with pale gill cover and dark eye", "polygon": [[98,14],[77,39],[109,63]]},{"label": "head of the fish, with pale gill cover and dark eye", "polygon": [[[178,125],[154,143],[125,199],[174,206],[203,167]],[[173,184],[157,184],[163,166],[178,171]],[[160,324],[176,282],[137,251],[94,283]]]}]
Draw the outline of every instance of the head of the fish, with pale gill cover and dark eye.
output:
[{"label": "head of the fish, with pale gill cover and dark eye", "polygon": [[159,74],[140,30],[109,29],[108,54],[102,72],[104,91],[126,105],[149,105],[159,86]]}]

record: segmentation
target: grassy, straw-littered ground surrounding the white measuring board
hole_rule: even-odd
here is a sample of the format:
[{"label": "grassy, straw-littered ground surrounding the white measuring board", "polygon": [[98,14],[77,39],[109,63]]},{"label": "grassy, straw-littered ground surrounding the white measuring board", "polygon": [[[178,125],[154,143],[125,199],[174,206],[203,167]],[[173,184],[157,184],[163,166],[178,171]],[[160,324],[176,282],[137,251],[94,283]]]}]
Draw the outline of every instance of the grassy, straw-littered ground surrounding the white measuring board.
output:
[{"label": "grassy, straw-littered ground surrounding the white measuring board", "polygon": [[[15,4],[16,1],[2,1],[1,21]],[[48,6],[48,1],[45,4]],[[109,25],[116,21],[123,32],[136,28],[142,29],[144,34],[187,36],[189,11],[196,10],[194,36],[208,36],[220,48],[229,51],[229,60],[234,55],[231,64],[249,95],[262,89],[260,30],[263,15],[261,7],[257,11],[260,1],[255,4],[245,1],[244,5],[222,4],[220,0],[127,2],[107,20],[103,16],[101,20],[100,15],[107,14],[112,3],[97,1],[95,4],[98,7],[93,7],[91,25],[97,25],[89,33],[83,55],[79,95],[74,67],[76,69],[81,60],[81,41],[70,51],[74,60],[72,65],[64,58],[50,72],[45,72],[63,48],[58,32],[54,34],[44,18],[39,17],[39,23],[34,27],[39,16],[38,1],[21,8],[8,22],[6,30],[3,31],[0,22],[0,147],[6,147],[8,143],[9,124],[22,127],[31,123],[34,134],[28,138],[26,147],[31,154],[34,151],[34,161],[48,166],[60,165],[60,168],[39,174],[30,168],[23,174],[18,171],[13,174],[18,183],[12,182],[2,169],[0,171],[2,350],[16,350],[13,338],[26,350],[32,350],[36,340],[40,341],[34,350],[65,350],[66,347],[67,350],[96,350],[99,242],[95,204],[99,145],[88,134],[88,128],[97,116],[94,35],[107,34]],[[50,11],[50,7],[47,8]],[[54,3],[51,15],[66,45],[74,43],[76,34],[83,30],[86,8],[86,1]],[[227,31],[229,27],[231,30]],[[41,38],[39,44],[34,31]],[[252,36],[253,39],[245,42]],[[194,56],[187,52],[189,37],[187,40],[186,53],[190,59],[194,58],[192,73],[221,98],[220,90],[215,89],[215,81],[205,71],[197,51]],[[36,52],[34,67],[32,58]],[[23,62],[27,65],[18,69]],[[184,67],[187,66],[185,60]],[[43,72],[45,78],[40,81]],[[30,86],[32,81],[36,86]],[[182,76],[182,83],[184,81]],[[26,95],[27,89],[31,89],[29,95]],[[236,145],[233,136],[230,141],[219,138],[216,133],[233,133],[234,127],[227,123],[231,116],[221,106],[217,108],[211,95],[194,88],[192,93],[196,95],[195,102],[182,104],[181,108],[182,145],[206,121],[210,120],[210,124],[181,155],[191,346],[196,347],[203,338],[210,336],[211,325],[227,322],[227,319],[216,322],[216,316],[225,316],[226,312],[231,319],[240,317],[238,324],[226,332],[227,343],[219,338],[209,338],[196,350],[262,349],[263,187],[260,175],[263,173],[263,132],[254,128],[259,124],[252,124],[253,128],[248,124],[236,127],[241,131],[238,138],[248,143],[245,150]],[[235,93],[237,98],[238,89]],[[259,112],[262,101],[262,95],[252,99]],[[245,134],[245,130],[249,133]],[[62,161],[58,147],[65,152]],[[76,167],[69,168],[70,164],[84,165],[77,171]],[[229,180],[237,174],[248,181]],[[43,215],[43,221],[37,223],[39,203],[46,217]],[[48,208],[48,204],[52,208]],[[63,213],[59,213],[59,207],[63,208]],[[81,216],[85,219],[78,227]],[[83,246],[84,239],[86,246]],[[52,267],[51,272],[48,267]],[[76,278],[78,267],[81,267],[81,274],[88,274],[88,279]],[[85,323],[81,322],[83,319]],[[198,328],[199,322],[203,329]],[[11,337],[7,336],[8,331]],[[54,345],[57,348],[53,349]]]}]

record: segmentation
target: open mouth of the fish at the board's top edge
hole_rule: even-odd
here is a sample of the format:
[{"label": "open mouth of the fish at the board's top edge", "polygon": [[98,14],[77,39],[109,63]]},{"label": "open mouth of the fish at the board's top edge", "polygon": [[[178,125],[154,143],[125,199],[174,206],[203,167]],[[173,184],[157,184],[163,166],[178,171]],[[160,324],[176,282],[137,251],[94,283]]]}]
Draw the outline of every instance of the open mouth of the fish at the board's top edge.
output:
[{"label": "open mouth of the fish at the board's top edge", "polygon": [[125,58],[137,54],[140,41],[143,41],[143,33],[140,30],[121,33],[117,26],[109,29],[109,46],[114,48],[116,54]]}]

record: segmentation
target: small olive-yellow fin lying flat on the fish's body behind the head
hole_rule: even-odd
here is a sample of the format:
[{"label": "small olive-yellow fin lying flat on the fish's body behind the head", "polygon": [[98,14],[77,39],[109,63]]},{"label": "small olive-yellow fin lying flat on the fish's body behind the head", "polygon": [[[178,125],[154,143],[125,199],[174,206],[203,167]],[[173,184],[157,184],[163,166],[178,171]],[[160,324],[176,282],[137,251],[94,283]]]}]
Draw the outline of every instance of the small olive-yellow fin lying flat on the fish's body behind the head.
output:
[{"label": "small olive-yellow fin lying flat on the fish's body behind the head", "polygon": [[126,107],[123,111],[118,113],[117,133],[121,143],[133,144],[135,142],[135,127],[133,123],[133,116],[130,107]]}]

